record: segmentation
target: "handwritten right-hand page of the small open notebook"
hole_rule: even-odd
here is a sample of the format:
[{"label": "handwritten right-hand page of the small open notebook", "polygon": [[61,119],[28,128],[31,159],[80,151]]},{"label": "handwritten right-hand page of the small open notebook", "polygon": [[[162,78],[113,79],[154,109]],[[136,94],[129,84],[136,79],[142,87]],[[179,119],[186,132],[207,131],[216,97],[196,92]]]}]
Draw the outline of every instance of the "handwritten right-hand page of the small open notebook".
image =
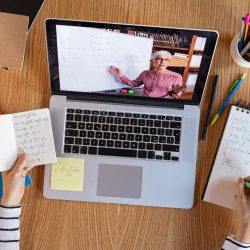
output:
[{"label": "handwritten right-hand page of the small open notebook", "polygon": [[22,112],[12,117],[17,149],[28,154],[30,165],[56,162],[49,110]]}]

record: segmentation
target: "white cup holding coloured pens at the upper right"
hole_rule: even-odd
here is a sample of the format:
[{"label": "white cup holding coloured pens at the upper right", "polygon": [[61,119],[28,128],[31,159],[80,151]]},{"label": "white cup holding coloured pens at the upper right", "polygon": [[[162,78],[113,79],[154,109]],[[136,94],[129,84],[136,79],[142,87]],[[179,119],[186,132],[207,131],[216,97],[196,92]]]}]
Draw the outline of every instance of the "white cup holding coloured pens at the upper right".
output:
[{"label": "white cup holding coloured pens at the upper right", "polygon": [[241,20],[241,31],[231,42],[233,60],[241,67],[250,68],[250,14]]}]

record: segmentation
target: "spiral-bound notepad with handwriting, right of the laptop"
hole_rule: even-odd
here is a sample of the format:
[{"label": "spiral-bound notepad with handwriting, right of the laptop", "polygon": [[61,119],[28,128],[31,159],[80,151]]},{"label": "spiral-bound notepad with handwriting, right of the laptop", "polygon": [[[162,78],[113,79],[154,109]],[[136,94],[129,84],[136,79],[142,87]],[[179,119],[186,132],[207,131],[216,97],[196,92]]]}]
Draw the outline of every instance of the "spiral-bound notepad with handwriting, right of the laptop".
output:
[{"label": "spiral-bound notepad with handwriting, right of the laptop", "polygon": [[203,200],[236,209],[236,181],[250,175],[250,105],[232,105]]}]

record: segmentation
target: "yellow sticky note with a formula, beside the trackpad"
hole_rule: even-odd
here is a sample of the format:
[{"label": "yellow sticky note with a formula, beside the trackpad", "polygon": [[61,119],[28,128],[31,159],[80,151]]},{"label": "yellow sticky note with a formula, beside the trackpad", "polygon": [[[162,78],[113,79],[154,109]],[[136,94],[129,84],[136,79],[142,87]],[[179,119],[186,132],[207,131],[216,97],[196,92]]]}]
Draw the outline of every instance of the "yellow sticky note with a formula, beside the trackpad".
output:
[{"label": "yellow sticky note with a formula, beside the trackpad", "polygon": [[51,189],[83,191],[84,160],[75,158],[57,158],[52,165]]}]

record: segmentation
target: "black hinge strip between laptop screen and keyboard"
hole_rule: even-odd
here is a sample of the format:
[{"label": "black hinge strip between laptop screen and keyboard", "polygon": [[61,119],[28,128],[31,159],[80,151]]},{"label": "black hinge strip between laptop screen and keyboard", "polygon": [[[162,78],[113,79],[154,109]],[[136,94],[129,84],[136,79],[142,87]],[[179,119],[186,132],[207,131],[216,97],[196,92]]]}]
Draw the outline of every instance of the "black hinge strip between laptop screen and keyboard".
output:
[{"label": "black hinge strip between laptop screen and keyboard", "polygon": [[87,101],[87,102],[97,102],[97,103],[117,103],[117,104],[126,104],[126,105],[138,105],[138,106],[158,106],[166,108],[175,108],[175,109],[184,109],[184,101],[166,101],[159,99],[145,99],[145,98],[126,98],[125,96],[104,96],[104,95],[67,95],[68,101]]}]

